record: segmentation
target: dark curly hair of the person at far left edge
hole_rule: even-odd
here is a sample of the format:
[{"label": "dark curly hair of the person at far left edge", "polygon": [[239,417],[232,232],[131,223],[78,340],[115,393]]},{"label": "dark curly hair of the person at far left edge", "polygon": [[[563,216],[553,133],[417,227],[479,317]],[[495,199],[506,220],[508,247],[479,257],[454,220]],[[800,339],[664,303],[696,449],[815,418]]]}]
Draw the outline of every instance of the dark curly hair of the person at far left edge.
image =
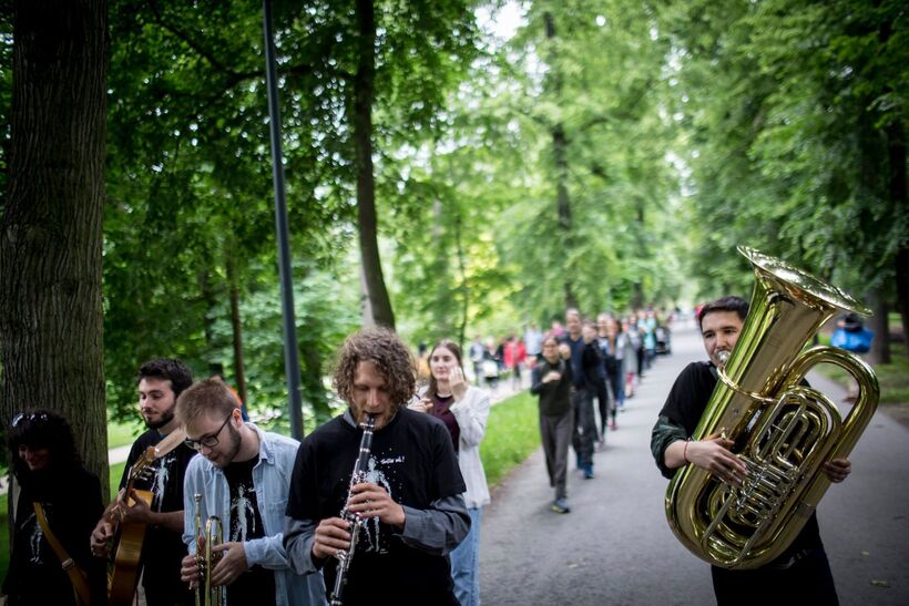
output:
[{"label": "dark curly hair of the person at far left edge", "polygon": [[48,465],[54,470],[82,464],[69,421],[50,410],[25,410],[14,415],[7,434],[7,445],[11,453],[13,473],[20,480],[29,473],[28,465],[19,456],[21,445],[34,450],[48,449]]}]

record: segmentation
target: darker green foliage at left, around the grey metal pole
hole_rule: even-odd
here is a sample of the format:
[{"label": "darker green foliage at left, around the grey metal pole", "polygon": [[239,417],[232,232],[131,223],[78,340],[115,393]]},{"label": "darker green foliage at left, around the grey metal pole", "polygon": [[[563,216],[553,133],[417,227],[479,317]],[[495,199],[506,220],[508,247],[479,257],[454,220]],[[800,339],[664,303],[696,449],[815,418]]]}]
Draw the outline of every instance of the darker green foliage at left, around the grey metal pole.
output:
[{"label": "darker green foliage at left, around the grey metal pole", "polygon": [[[276,9],[305,415],[324,420],[326,360],[359,311],[349,254],[357,23],[353,3]],[[261,11],[247,0],[112,6],[104,340],[116,418],[132,414],[135,368],[152,357],[180,357],[196,376],[222,364],[235,382],[232,288],[247,403],[267,417],[285,409]],[[394,156],[440,127],[476,27],[453,1],[376,2],[376,21],[377,191],[394,213]]]}]

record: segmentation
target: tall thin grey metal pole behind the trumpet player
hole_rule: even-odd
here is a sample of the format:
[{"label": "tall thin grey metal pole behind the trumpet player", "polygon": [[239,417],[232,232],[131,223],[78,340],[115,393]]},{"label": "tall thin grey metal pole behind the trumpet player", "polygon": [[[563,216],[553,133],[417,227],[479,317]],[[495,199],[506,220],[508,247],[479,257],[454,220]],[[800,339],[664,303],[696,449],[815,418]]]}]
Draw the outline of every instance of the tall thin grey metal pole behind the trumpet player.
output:
[{"label": "tall thin grey metal pole behind the trumpet player", "polygon": [[294,288],[290,267],[290,245],[287,229],[287,201],[284,197],[284,154],[280,147],[280,109],[275,70],[275,44],[272,33],[272,0],[263,0],[265,23],[265,82],[268,88],[268,117],[272,132],[272,179],[275,184],[275,226],[280,269],[280,305],[284,316],[284,372],[290,397],[290,434],[303,440],[303,398],[300,396],[297,332],[294,318]]}]

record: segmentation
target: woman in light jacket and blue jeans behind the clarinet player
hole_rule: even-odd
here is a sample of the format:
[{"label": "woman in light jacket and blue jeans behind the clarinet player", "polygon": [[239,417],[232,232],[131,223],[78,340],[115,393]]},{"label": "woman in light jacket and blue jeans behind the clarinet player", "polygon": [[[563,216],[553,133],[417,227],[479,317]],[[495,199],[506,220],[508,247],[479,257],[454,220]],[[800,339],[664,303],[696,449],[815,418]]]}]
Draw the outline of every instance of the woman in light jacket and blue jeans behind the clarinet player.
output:
[{"label": "woman in light jacket and blue jeans behind the clarinet player", "polygon": [[462,606],[480,604],[480,518],[489,504],[489,487],[480,442],[489,419],[489,394],[472,387],[464,378],[461,348],[442,339],[429,351],[429,386],[410,408],[439,419],[451,434],[458,466],[467,484],[464,505],[470,514],[467,538],[451,552],[451,577],[455,595]]}]

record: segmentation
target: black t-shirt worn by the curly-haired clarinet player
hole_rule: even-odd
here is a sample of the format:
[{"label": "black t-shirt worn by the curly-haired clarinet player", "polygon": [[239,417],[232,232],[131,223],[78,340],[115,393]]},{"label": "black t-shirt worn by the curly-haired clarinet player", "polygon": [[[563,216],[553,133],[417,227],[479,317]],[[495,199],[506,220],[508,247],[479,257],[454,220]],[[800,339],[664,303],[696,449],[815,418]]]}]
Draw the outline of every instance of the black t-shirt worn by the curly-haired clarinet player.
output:
[{"label": "black t-shirt worn by the curly-haired clarinet player", "polygon": [[[287,515],[319,521],[337,517],[347,499],[362,431],[338,417],[300,444]],[[372,438],[367,481],[382,486],[397,503],[429,509],[439,499],[463,493],[451,436],[428,414],[401,409]],[[355,604],[457,604],[448,557],[406,545],[391,526],[371,518],[360,530],[348,571],[344,602]],[[337,559],[323,573],[330,593]]]}]

